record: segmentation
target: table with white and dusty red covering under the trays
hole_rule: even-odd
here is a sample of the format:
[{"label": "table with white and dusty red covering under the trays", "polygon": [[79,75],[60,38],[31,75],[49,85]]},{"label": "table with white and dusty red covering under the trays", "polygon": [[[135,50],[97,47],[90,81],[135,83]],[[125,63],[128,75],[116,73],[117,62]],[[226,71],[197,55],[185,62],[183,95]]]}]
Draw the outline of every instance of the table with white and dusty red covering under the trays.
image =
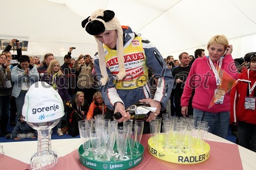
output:
[{"label": "table with white and dusty red covering under the trays", "polygon": [[[142,136],[144,146],[143,161],[132,169],[256,169],[256,153],[247,150],[235,143],[208,134],[208,143],[211,147],[207,161],[181,165],[169,163],[153,157],[147,150],[147,140],[150,134]],[[37,141],[5,142],[5,155],[0,155],[1,169],[30,169],[30,157],[37,151]],[[52,140],[52,150],[57,152],[58,162],[50,169],[88,169],[78,160],[80,138]]]}]

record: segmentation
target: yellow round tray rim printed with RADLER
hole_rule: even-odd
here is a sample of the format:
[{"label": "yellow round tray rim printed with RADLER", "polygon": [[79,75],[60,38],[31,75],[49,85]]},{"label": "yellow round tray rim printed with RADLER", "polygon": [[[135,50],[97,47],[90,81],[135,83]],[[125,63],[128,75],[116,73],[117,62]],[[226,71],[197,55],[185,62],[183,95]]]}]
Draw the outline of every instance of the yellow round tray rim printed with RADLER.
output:
[{"label": "yellow round tray rim printed with RADLER", "polygon": [[153,137],[148,139],[148,151],[156,158],[179,164],[196,164],[206,161],[210,156],[210,146],[206,142],[206,145],[202,152],[189,154],[187,153],[176,153],[176,152],[166,152],[163,149],[163,145],[161,144],[163,141],[163,134],[159,135],[159,143],[158,147],[155,146],[153,142]]}]

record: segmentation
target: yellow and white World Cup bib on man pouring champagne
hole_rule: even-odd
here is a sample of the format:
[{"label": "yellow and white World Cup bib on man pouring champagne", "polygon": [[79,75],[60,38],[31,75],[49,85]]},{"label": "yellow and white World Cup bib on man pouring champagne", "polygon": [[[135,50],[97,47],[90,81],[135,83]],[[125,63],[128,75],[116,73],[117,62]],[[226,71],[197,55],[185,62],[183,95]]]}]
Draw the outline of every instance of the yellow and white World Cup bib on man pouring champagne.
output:
[{"label": "yellow and white World Cup bib on man pouring champagne", "polygon": [[[112,75],[119,72],[116,50],[103,45],[105,51],[106,67],[109,68]],[[124,67],[126,77],[120,81],[114,82],[117,89],[134,89],[141,87],[148,81],[146,56],[142,47],[141,37],[135,37],[132,43],[124,48],[123,52]]]}]

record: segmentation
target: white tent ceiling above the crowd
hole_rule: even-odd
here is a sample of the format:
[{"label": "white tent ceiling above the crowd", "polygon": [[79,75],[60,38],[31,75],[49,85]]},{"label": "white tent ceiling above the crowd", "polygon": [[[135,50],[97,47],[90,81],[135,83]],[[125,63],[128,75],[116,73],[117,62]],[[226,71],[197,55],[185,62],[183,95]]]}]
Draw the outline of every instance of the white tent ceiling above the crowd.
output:
[{"label": "white tent ceiling above the crowd", "polygon": [[[121,25],[149,39],[164,58],[194,55],[216,34],[224,34],[239,58],[256,51],[255,0],[1,0],[1,39],[28,40],[28,55],[93,55],[96,42],[81,27],[93,11],[113,10]],[[207,51],[206,51],[207,54]]]}]

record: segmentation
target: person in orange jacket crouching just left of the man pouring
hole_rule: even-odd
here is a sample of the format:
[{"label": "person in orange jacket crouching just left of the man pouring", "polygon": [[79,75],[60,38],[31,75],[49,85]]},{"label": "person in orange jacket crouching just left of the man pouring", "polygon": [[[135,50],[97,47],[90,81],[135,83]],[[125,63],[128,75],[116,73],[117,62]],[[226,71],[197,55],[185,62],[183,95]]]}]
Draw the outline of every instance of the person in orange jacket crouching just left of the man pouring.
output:
[{"label": "person in orange jacket crouching just left of the man pouring", "polygon": [[90,119],[97,114],[105,114],[105,112],[106,112],[106,105],[102,100],[101,92],[97,91],[93,95],[93,102],[89,107],[86,118]]}]

